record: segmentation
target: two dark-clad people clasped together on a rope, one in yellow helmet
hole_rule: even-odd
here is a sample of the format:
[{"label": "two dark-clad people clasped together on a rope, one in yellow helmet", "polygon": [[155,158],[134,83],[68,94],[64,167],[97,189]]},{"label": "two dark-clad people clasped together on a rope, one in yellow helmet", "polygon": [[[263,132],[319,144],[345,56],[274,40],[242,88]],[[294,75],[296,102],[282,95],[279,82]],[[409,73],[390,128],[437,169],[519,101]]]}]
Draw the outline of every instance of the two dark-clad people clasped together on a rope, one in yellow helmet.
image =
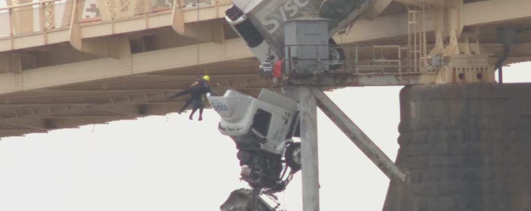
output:
[{"label": "two dark-clad people clasped together on a rope, one in yellow helmet", "polygon": [[[188,89],[185,89],[181,92],[177,92],[175,94],[166,94],[166,98],[170,99],[170,98],[177,98],[178,96],[181,96],[181,95],[185,95],[185,94],[190,94],[190,98],[188,100],[186,100],[186,102],[184,103],[183,105],[183,108],[181,108],[181,110],[179,110],[177,113],[179,113],[179,115],[184,111],[184,109],[186,109],[186,107],[188,107],[188,105],[190,105],[190,103],[192,102],[199,102],[199,103],[194,103],[192,104],[192,113],[190,115],[190,119],[192,119],[192,115],[193,113],[195,112],[195,110],[197,110],[198,108],[200,109],[199,110],[199,120],[201,121],[203,118],[202,118],[202,111],[203,109],[201,108],[201,104],[203,105],[202,107],[204,107],[204,103],[203,103],[203,95],[206,94],[206,93],[211,93],[212,92],[212,88],[210,87],[210,84],[208,83],[210,81],[210,77],[208,75],[204,75],[203,78],[201,78],[200,80],[194,82],[190,88]],[[195,105],[195,106],[194,106]],[[195,107],[195,108],[194,108]]]}]

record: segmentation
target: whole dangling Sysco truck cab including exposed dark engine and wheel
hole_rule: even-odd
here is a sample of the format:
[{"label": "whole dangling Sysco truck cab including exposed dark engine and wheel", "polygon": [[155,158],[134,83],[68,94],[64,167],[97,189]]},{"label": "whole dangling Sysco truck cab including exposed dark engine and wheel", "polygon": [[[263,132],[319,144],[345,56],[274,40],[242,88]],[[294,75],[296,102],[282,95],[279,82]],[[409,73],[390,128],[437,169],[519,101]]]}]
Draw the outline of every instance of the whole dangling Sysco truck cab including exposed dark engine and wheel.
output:
[{"label": "whole dangling Sysco truck cab including exposed dark engine and wheel", "polygon": [[258,98],[228,90],[208,100],[221,116],[218,130],[236,143],[241,179],[264,192],[284,190],[301,169],[301,145],[293,140],[299,137],[298,103],[266,89]]}]

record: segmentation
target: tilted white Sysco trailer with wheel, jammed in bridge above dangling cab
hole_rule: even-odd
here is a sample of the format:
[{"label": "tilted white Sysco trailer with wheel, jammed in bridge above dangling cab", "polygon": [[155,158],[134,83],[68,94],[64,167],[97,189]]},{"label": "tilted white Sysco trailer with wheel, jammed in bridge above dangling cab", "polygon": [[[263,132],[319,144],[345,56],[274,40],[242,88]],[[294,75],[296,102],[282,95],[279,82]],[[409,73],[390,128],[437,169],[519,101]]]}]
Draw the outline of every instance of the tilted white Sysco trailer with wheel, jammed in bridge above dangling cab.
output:
[{"label": "tilted white Sysco trailer with wheel, jammed in bridge above dangling cab", "polygon": [[[281,59],[284,25],[298,17],[315,16],[329,19],[332,36],[354,22],[374,0],[232,0],[225,19],[247,43],[262,64]],[[330,38],[330,45],[336,42]],[[329,59],[342,60],[340,48],[330,48]],[[270,66],[264,64],[265,66]],[[339,66],[332,66],[338,68]]]}]

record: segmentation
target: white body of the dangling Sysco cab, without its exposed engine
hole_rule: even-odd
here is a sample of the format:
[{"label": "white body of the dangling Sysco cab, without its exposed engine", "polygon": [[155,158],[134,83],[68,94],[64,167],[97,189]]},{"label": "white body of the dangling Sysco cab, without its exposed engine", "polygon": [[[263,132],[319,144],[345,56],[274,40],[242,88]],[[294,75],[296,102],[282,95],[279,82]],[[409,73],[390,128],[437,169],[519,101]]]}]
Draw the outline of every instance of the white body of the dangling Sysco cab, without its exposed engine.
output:
[{"label": "white body of the dangling Sysco cab, without its exposed engine", "polygon": [[258,98],[253,98],[228,90],[223,96],[208,96],[208,100],[221,116],[220,133],[237,143],[282,154],[296,132],[298,103],[284,95],[262,89]]}]

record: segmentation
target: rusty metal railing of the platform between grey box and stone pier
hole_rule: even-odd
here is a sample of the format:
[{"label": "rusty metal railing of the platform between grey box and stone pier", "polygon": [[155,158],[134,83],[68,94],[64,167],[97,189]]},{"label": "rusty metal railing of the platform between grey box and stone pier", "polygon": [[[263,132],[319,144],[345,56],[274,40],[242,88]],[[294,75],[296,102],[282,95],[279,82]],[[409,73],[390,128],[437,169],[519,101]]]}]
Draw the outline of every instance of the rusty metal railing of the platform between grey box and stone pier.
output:
[{"label": "rusty metal railing of the platform between grey box and stone pier", "polygon": [[408,55],[407,47],[397,45],[286,45],[281,51],[288,74],[315,71],[352,74],[430,72],[430,69],[417,68],[415,63],[409,63]]}]

